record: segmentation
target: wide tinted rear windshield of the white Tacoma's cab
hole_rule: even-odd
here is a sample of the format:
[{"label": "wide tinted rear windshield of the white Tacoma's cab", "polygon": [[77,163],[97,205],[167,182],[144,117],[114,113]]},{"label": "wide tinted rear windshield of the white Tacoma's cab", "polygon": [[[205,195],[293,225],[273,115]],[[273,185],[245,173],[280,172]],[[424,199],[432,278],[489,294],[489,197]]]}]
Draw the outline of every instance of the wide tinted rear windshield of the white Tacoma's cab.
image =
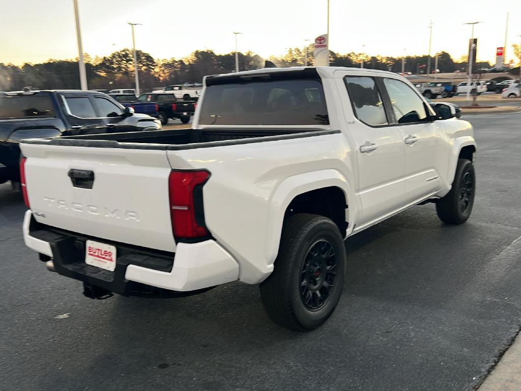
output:
[{"label": "wide tinted rear windshield of the white Tacoma's cab", "polygon": [[203,125],[328,125],[317,79],[259,80],[209,85],[201,105]]}]

